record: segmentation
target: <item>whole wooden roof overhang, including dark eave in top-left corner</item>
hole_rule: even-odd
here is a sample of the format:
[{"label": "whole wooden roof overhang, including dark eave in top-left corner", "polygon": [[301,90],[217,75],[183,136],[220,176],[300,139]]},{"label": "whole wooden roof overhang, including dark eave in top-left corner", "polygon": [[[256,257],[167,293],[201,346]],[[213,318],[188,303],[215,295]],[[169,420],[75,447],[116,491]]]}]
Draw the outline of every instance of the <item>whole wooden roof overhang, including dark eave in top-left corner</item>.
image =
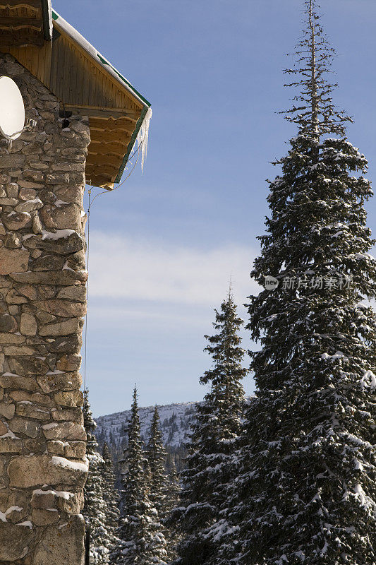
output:
[{"label": "whole wooden roof overhang, including dark eave in top-left corner", "polygon": [[[9,13],[18,19],[8,20]],[[51,0],[0,0],[0,50],[13,54],[59,98],[61,117],[89,117],[86,179],[113,189],[148,123],[150,102],[51,9]]]}]

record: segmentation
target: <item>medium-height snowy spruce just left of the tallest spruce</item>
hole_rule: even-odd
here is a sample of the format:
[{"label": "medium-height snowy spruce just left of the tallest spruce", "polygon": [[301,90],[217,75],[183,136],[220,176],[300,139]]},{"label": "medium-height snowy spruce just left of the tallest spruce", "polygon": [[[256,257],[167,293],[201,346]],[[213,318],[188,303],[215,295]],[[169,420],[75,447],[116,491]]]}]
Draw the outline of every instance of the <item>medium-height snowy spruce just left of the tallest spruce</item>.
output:
[{"label": "medium-height snowy spruce just left of the tallest spruce", "polygon": [[205,335],[209,341],[205,351],[212,356],[213,367],[200,379],[202,384],[210,384],[211,390],[204,402],[197,405],[186,469],[181,473],[181,506],[173,511],[169,521],[176,521],[182,536],[176,562],[183,565],[214,562],[224,484],[231,475],[229,463],[241,427],[241,381],[247,369],[241,365],[244,350],[238,335],[243,321],[236,314],[231,290],[221,311],[215,312],[213,326],[217,333]]}]

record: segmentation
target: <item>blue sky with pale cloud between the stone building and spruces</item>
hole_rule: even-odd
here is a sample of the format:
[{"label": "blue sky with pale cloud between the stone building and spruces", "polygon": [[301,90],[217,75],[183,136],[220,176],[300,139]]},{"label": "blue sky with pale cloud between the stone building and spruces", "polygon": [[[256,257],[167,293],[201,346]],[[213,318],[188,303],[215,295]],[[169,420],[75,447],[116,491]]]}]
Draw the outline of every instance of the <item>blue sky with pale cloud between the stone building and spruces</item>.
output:
[{"label": "blue sky with pale cloud between the stone building and spruces", "polygon": [[[376,167],[375,0],[323,0],[334,100]],[[264,230],[270,162],[293,127],[282,69],[303,0],[55,0],[54,8],[152,102],[149,153],[91,214],[87,386],[95,415],[200,400],[202,352],[232,276],[238,304]],[[367,205],[369,225],[376,203]],[[241,306],[239,311],[246,316]],[[247,332],[243,346],[250,347]],[[251,376],[245,382],[253,390]]]}]

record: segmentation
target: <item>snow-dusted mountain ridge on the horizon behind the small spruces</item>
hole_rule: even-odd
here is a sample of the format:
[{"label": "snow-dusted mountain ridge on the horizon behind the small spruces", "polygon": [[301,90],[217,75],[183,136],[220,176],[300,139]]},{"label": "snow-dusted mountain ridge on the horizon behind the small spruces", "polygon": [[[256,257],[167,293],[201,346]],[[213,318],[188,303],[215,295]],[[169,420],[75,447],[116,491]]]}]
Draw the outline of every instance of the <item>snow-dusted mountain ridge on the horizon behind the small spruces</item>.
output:
[{"label": "snow-dusted mountain ridge on the horizon behind the small spruces", "polygon": [[[190,423],[195,419],[195,405],[195,402],[187,402],[157,406],[164,445],[178,448],[186,441]],[[140,432],[144,441],[149,438],[154,408],[147,406],[139,409]],[[99,444],[106,441],[112,448],[120,448],[127,439],[126,429],[130,418],[131,410],[97,417],[95,435]]]}]

